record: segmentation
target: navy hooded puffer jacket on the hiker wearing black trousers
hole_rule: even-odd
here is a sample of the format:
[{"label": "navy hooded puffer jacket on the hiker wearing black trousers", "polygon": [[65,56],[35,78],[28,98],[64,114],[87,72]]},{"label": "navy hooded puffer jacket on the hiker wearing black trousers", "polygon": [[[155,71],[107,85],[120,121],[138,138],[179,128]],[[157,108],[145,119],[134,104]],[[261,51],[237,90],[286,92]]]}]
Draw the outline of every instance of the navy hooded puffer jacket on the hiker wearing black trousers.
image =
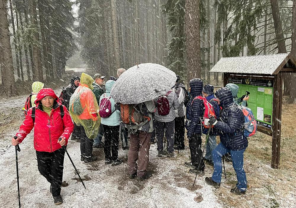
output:
[{"label": "navy hooded puffer jacket on the hiker wearing black trousers", "polygon": [[[191,137],[193,134],[201,134],[202,133],[202,125],[200,122],[200,118],[203,118],[204,113],[204,104],[200,99],[193,99],[197,96],[202,95],[203,82],[199,78],[194,78],[189,81],[190,85],[190,94],[191,100],[188,102],[186,107],[186,129],[187,136]],[[193,103],[192,103],[193,101]],[[192,104],[191,104],[192,103]]]}]

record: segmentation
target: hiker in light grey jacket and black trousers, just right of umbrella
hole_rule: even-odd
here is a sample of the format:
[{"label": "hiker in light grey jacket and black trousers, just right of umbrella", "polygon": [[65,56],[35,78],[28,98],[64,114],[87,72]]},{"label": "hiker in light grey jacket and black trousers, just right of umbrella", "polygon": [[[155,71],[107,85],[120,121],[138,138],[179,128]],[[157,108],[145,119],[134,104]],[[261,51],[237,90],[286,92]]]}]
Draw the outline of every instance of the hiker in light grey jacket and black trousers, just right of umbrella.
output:
[{"label": "hiker in light grey jacket and black trousers, just right of umbrella", "polygon": [[184,150],[184,136],[185,136],[185,85],[180,83],[180,76],[177,75],[176,84],[173,86],[173,90],[176,92],[178,100],[179,100],[179,107],[175,110],[176,118],[175,118],[175,134],[174,134],[174,143],[176,147],[175,150]]}]

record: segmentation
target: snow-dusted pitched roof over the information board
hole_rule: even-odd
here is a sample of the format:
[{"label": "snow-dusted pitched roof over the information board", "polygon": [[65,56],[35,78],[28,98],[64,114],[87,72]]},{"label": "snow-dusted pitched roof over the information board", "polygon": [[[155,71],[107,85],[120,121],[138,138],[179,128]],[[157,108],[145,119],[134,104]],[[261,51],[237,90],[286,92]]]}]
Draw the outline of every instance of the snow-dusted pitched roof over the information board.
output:
[{"label": "snow-dusted pitched roof over the information board", "polygon": [[226,57],[221,58],[210,72],[277,74],[290,58],[290,53]]}]

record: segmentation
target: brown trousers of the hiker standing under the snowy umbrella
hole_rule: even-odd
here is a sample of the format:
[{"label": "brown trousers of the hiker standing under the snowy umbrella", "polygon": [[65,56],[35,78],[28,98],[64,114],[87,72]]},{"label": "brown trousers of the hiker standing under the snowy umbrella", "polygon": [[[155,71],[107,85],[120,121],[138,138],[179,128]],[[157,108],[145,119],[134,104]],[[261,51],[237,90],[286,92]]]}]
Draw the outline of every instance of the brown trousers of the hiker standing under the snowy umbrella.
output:
[{"label": "brown trousers of the hiker standing under the snowy umbrella", "polygon": [[128,152],[129,174],[137,173],[138,177],[143,177],[146,174],[149,161],[150,136],[151,133],[143,131],[131,134]]}]

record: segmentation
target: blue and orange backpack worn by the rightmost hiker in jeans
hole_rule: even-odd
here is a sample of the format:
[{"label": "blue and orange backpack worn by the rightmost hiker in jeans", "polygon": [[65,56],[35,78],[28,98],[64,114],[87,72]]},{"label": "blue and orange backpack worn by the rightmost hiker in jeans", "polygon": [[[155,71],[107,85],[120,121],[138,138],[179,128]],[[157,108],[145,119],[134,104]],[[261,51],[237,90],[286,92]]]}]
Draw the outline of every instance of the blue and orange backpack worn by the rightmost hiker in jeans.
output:
[{"label": "blue and orange backpack worn by the rightmost hiker in jeans", "polygon": [[244,125],[243,131],[245,137],[251,137],[255,135],[257,131],[257,122],[255,120],[255,116],[250,108],[241,107],[242,112],[244,114]]}]

